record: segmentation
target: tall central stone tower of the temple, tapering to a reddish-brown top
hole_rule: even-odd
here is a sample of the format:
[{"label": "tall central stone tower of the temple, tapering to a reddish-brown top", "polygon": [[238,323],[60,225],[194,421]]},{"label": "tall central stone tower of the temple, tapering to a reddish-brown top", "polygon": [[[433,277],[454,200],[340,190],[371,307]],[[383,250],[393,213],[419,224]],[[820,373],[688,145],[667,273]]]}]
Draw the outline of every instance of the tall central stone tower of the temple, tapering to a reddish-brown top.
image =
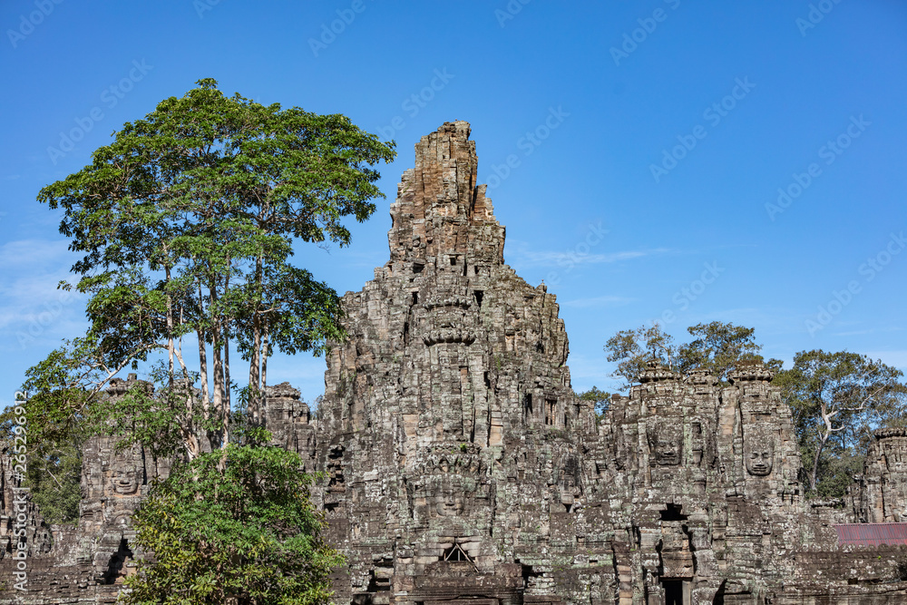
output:
[{"label": "tall central stone tower of the temple, tapering to a reddish-brown top", "polygon": [[580,496],[593,411],[573,396],[554,296],[503,263],[469,133],[446,122],[416,144],[390,261],[346,294],[349,339],[327,360],[316,465],[357,600],[522,602],[521,545],[546,546],[551,507]]}]

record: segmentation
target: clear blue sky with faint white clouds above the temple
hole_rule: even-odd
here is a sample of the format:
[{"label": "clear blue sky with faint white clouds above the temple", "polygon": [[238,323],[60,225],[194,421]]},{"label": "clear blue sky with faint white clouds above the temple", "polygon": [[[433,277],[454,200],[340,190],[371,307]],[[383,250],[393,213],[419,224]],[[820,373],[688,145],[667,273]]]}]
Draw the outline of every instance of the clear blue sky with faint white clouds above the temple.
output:
[{"label": "clear blue sky with faint white clouds above the temple", "polygon": [[[659,318],[680,338],[756,327],[788,362],[846,349],[907,369],[898,0],[10,0],[0,30],[0,403],[85,327],[54,289],[73,255],[38,190],[204,77],[397,142],[352,246],[298,250],[340,292],[388,258],[414,142],[466,120],[506,262],[561,303],[578,390],[615,385],[601,346]],[[268,382],[310,401],[323,372],[278,357]]]}]

